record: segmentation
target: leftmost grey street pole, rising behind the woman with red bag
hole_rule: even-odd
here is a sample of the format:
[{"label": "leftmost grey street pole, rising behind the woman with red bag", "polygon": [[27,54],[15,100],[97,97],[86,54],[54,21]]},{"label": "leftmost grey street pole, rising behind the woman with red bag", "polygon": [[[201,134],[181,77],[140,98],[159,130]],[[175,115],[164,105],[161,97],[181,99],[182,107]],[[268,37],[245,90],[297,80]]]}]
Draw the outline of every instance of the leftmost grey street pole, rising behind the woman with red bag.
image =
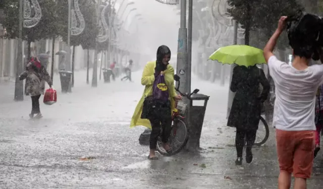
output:
[{"label": "leftmost grey street pole, rising behind the woman with red bag", "polygon": [[22,55],[22,21],[23,21],[23,0],[19,2],[19,38],[18,38],[18,50],[16,60],[16,82],[15,82],[15,100],[24,100],[24,83],[19,80],[19,76],[23,71],[23,55]]}]

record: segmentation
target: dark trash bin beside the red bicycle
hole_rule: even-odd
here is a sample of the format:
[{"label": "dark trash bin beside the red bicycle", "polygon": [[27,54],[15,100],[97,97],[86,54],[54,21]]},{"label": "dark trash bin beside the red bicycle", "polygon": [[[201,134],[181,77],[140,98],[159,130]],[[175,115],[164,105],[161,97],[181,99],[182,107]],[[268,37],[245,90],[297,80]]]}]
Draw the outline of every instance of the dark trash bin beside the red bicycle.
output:
[{"label": "dark trash bin beside the red bicycle", "polygon": [[[203,94],[192,94],[190,100],[190,123],[189,124],[189,140],[186,145],[186,149],[189,151],[196,151],[200,149],[200,138],[202,132],[202,126],[204,121],[204,115],[206,110],[207,101],[209,96]],[[193,101],[204,100],[203,106],[194,106]]]}]

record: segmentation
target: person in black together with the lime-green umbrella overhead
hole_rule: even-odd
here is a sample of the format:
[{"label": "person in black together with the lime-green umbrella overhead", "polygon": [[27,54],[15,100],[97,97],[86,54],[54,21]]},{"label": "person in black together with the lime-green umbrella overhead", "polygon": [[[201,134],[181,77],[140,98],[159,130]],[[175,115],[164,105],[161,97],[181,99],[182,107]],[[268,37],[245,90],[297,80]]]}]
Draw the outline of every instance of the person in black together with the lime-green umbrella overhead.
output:
[{"label": "person in black together with the lime-green umbrella overhead", "polygon": [[[243,147],[246,147],[246,162],[251,163],[252,146],[256,139],[261,114],[261,103],[269,94],[270,83],[257,64],[264,64],[263,51],[248,45],[230,45],[219,48],[209,57],[222,64],[237,65],[233,70],[230,90],[236,92],[227,125],[236,131],[236,165],[242,164]],[[260,94],[260,84],[262,92]],[[245,141],[246,139],[246,141]]]}]

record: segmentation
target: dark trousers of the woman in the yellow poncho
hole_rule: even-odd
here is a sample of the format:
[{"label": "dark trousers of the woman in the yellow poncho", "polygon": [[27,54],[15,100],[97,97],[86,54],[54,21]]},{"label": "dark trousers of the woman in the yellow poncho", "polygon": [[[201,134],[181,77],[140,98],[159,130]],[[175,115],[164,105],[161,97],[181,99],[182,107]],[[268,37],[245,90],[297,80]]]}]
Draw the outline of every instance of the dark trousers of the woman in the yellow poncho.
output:
[{"label": "dark trousers of the woman in the yellow poncho", "polygon": [[172,131],[172,114],[170,105],[156,105],[155,110],[149,118],[151,124],[151,134],[149,140],[149,148],[156,149],[158,136],[161,128],[161,142],[167,143]]}]

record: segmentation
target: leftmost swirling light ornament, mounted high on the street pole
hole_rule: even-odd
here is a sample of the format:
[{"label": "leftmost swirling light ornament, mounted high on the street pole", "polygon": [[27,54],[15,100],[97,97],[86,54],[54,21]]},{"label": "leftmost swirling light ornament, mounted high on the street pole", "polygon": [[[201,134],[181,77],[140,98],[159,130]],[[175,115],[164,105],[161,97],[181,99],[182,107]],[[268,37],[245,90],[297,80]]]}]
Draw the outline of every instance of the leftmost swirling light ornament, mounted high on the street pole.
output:
[{"label": "leftmost swirling light ornament, mounted high on the street pole", "polygon": [[[40,19],[41,19],[41,9],[37,0],[24,0],[24,20],[23,27],[24,28],[32,28],[35,27]],[[31,5],[30,5],[31,3]],[[33,10],[32,10],[33,9]],[[35,12],[35,16],[31,17],[31,12]]]}]

